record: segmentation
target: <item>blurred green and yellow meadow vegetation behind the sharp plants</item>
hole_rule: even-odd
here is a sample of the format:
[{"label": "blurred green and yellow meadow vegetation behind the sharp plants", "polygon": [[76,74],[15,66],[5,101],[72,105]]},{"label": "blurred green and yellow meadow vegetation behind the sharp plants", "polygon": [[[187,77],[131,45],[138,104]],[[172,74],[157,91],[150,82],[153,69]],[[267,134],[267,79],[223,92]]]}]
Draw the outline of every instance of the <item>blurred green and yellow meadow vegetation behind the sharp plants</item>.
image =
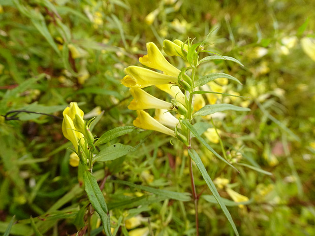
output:
[{"label": "blurred green and yellow meadow vegetation behind the sharp plants", "polygon": [[[93,130],[98,137],[132,125],[136,114],[127,109],[132,98],[120,84],[123,69],[139,65],[146,42],[159,48],[164,39],[200,42],[212,31],[208,50],[235,57],[244,68],[216,61],[201,66],[200,74],[238,78],[243,85],[230,82],[220,89],[248,97],[221,96],[218,102],[251,109],[214,117],[215,126],[230,161],[266,172],[237,165],[238,174],[201,148],[209,175],[222,197],[231,199],[218,184],[227,179],[250,199],[246,206],[228,207],[240,235],[315,235],[313,9],[310,0],[0,0],[0,232],[15,215],[12,235],[76,235],[87,205],[77,168],[69,165],[71,144],[62,136],[61,120],[8,112],[62,117],[77,102],[85,113],[105,111]],[[195,235],[193,202],[140,201],[145,192],[111,181],[191,192],[182,147],[151,133],[116,139],[131,146],[144,142],[137,153],[94,168],[100,180],[110,176],[104,193],[112,225],[121,223],[116,235],[148,226],[151,235]],[[220,151],[219,144],[211,146]],[[196,185],[202,195],[210,194],[197,171]],[[201,197],[199,214],[200,235],[233,235],[218,205]],[[133,216],[142,219],[134,228],[126,224]],[[92,235],[102,235],[93,217]]]}]

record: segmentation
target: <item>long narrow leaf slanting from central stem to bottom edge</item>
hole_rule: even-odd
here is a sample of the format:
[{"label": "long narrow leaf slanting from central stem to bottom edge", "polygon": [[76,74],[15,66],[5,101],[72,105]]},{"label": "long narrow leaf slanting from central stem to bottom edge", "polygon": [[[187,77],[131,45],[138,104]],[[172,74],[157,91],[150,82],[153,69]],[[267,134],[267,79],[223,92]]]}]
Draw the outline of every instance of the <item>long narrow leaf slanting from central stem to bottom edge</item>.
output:
[{"label": "long narrow leaf slanting from central stem to bottom edge", "polygon": [[202,177],[204,178],[204,180],[206,181],[210,191],[212,192],[214,198],[216,199],[217,203],[220,205],[221,209],[223,210],[224,214],[226,215],[228,221],[230,222],[230,224],[232,225],[232,228],[235,232],[235,234],[237,236],[239,236],[238,231],[236,229],[236,226],[233,222],[232,216],[230,214],[230,212],[228,211],[227,207],[225,206],[221,196],[219,195],[219,193],[217,192],[214,183],[212,182],[210,176],[207,173],[207,170],[205,168],[205,166],[203,165],[199,155],[197,154],[197,152],[194,149],[188,149],[188,153],[189,155],[192,157],[192,159],[195,161]]}]

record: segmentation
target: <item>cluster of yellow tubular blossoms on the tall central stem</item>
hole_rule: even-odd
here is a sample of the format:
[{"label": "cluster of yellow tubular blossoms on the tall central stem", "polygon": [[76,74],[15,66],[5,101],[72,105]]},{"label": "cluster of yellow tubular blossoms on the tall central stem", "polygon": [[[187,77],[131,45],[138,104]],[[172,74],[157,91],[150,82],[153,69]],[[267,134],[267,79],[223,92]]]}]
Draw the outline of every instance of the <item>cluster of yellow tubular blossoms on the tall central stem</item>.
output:
[{"label": "cluster of yellow tubular blossoms on the tall central stem", "polygon": [[[187,48],[187,45],[179,40],[174,42],[164,40],[163,45],[164,51],[169,56],[183,57],[182,49]],[[180,128],[179,120],[168,111],[174,111],[178,114],[185,112],[185,95],[180,89],[183,87],[182,83],[184,81],[178,79],[181,71],[166,60],[154,43],[147,43],[146,47],[147,55],[139,58],[140,63],[163,73],[140,66],[128,66],[124,70],[127,75],[121,81],[124,86],[130,88],[130,92],[134,97],[128,108],[137,111],[138,118],[133,122],[135,126],[176,137],[177,134],[175,134],[173,128]],[[156,86],[168,93],[173,98],[171,103],[156,98],[142,89],[148,86]],[[156,109],[155,117],[153,118],[145,112],[146,109]]]}]

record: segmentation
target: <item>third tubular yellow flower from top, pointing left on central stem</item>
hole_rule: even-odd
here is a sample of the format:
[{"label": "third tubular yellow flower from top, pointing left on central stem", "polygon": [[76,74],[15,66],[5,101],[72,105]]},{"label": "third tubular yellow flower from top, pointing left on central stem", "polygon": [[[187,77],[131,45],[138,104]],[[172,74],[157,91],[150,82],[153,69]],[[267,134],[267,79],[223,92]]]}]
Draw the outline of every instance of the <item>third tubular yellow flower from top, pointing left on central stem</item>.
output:
[{"label": "third tubular yellow flower from top, pointing left on central stem", "polygon": [[130,110],[144,110],[151,108],[167,110],[175,109],[171,103],[156,98],[141,88],[131,88],[130,93],[134,97],[128,106],[128,109]]}]

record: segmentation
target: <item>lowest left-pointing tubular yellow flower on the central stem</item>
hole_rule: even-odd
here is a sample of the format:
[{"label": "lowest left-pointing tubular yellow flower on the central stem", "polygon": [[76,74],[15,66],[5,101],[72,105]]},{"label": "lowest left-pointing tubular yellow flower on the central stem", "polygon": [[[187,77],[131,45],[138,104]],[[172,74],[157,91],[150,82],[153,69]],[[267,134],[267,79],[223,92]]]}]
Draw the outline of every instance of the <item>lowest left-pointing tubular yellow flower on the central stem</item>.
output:
[{"label": "lowest left-pointing tubular yellow flower on the central stem", "polygon": [[150,129],[159,131],[170,136],[175,137],[175,132],[168,127],[161,124],[159,121],[156,121],[149,113],[143,110],[137,110],[138,117],[134,120],[133,124],[142,129]]}]

